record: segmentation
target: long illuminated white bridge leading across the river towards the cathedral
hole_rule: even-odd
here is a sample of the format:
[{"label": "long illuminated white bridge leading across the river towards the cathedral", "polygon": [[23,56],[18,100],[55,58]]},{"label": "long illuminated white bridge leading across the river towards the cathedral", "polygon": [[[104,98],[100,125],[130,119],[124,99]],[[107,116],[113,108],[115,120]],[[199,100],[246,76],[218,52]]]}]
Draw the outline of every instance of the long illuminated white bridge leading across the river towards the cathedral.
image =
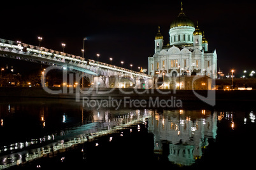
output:
[{"label": "long illuminated white bridge leading across the river towards the cathedral", "polygon": [[0,39],[0,56],[72,70],[87,77],[91,84],[106,88],[153,86],[150,75],[22,42]]}]

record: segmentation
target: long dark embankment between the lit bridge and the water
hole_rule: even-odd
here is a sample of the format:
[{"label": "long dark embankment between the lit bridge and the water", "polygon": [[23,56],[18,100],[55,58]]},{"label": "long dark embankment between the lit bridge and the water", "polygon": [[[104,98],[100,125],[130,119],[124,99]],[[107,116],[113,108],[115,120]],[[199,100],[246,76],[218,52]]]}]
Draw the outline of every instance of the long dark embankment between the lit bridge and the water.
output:
[{"label": "long dark embankment between the lit bridge and the water", "polygon": [[[111,88],[51,88],[51,94],[43,88],[0,88],[0,99],[6,98],[48,98],[48,99],[69,99],[84,101],[87,105],[90,100],[103,100],[101,105],[113,107],[117,100],[123,101],[126,107],[182,107],[183,103],[203,103],[210,106],[225,105],[226,103],[238,103],[238,105],[253,103],[256,101],[256,91],[223,91],[223,90],[172,90],[172,89],[111,89]],[[113,101],[112,103],[109,101]],[[120,102],[121,102],[120,101]],[[182,103],[181,103],[182,102]],[[117,103],[118,104],[118,103]],[[116,105],[117,105],[116,104]],[[122,105],[124,105],[122,104]],[[181,104],[181,105],[180,105]],[[115,107],[115,106],[114,106]]]}]

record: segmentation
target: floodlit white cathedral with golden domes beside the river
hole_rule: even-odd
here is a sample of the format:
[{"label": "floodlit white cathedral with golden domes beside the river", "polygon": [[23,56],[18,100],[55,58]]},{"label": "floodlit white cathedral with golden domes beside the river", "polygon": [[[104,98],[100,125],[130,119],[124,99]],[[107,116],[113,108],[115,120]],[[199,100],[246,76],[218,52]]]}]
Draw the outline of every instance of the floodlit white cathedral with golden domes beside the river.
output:
[{"label": "floodlit white cathedral with golden domes beside the river", "polygon": [[208,49],[204,32],[199,29],[198,23],[195,25],[185,15],[182,3],[180,14],[171,22],[166,45],[159,27],[155,36],[155,53],[148,57],[148,74],[155,82],[161,77],[166,77],[163,82],[186,75],[208,76],[211,79],[217,77],[216,50]]}]

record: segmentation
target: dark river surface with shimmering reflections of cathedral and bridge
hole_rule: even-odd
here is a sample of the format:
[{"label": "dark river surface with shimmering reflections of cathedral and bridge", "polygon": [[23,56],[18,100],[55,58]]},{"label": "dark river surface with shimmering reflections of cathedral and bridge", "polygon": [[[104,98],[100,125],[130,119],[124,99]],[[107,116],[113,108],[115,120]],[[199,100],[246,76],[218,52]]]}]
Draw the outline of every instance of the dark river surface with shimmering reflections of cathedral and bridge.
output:
[{"label": "dark river surface with shimmering reflections of cathedral and bridge", "polygon": [[256,112],[242,106],[97,110],[74,100],[1,100],[0,169],[252,167]]}]

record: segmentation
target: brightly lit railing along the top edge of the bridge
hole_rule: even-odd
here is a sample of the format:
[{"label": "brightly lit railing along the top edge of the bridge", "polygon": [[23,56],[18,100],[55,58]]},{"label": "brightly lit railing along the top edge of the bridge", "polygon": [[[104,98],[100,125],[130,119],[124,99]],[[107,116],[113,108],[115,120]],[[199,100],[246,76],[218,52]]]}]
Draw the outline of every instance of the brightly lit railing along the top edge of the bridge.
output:
[{"label": "brightly lit railing along the top edge of the bridge", "polygon": [[129,70],[129,69],[125,69],[123,67],[118,67],[115,65],[110,65],[108,63],[103,63],[103,62],[97,62],[95,60],[85,60],[85,58],[83,58],[82,56],[76,56],[76,55],[71,55],[68,53],[64,53],[64,52],[60,52],[60,51],[56,51],[53,49],[48,49],[48,48],[44,48],[44,47],[39,47],[39,46],[34,46],[31,44],[25,44],[22,42],[16,42],[16,41],[11,41],[11,40],[6,40],[6,39],[0,39],[0,47],[2,47],[3,51],[10,51],[9,48],[13,48],[16,49],[16,53],[22,53],[22,52],[27,52],[29,51],[30,53],[34,54],[41,54],[43,56],[50,56],[50,57],[57,57],[60,58],[60,62],[63,63],[70,63],[70,62],[76,62],[76,63],[82,63],[83,65],[92,65],[95,67],[102,67],[104,69],[110,69],[110,70],[115,70],[117,72],[124,72],[125,74],[131,74],[133,76],[136,77],[144,77],[147,79],[151,79],[152,77],[150,75],[141,73],[141,72],[136,72],[134,70]]}]

